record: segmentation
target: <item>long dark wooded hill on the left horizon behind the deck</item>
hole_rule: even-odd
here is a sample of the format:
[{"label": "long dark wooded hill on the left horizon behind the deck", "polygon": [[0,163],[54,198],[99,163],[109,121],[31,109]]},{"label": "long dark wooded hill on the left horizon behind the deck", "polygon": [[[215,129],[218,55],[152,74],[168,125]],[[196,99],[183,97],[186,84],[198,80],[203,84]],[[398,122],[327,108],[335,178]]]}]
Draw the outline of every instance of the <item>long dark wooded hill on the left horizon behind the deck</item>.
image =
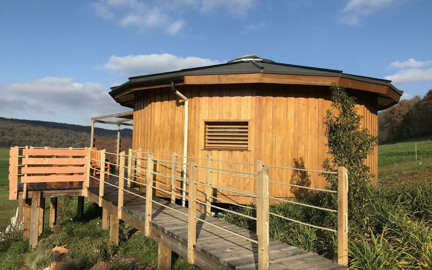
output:
[{"label": "long dark wooded hill on the left horizon behind the deck", "polygon": [[[0,147],[86,147],[90,132],[90,126],[0,117]],[[120,134],[123,139],[131,139],[132,129],[122,128]],[[117,130],[95,127],[95,137],[114,139]]]}]

